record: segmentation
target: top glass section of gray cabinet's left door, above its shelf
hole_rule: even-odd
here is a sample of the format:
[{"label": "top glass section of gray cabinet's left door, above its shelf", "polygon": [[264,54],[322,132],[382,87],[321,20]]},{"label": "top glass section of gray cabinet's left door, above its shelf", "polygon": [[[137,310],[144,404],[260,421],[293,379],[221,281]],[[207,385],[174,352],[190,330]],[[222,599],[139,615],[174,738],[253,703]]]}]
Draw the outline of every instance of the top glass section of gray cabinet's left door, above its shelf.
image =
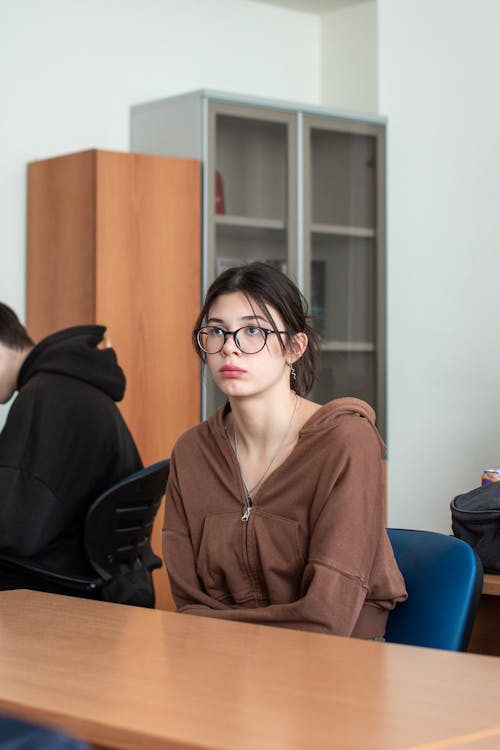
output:
[{"label": "top glass section of gray cabinet's left door, above its shelf", "polygon": [[287,136],[284,123],[217,115],[215,163],[224,213],[287,220]]}]

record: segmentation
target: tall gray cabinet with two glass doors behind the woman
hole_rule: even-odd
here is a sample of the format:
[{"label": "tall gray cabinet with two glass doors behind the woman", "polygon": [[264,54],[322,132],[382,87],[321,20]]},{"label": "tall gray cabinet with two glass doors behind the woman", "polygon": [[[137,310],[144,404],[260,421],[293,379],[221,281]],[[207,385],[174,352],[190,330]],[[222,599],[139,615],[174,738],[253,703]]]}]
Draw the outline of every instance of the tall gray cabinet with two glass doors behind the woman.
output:
[{"label": "tall gray cabinet with two glass doors behind the woman", "polygon": [[131,148],[200,159],[204,288],[248,260],[285,270],[323,340],[312,398],[363,398],[384,433],[383,119],[197,91],[133,107]]}]

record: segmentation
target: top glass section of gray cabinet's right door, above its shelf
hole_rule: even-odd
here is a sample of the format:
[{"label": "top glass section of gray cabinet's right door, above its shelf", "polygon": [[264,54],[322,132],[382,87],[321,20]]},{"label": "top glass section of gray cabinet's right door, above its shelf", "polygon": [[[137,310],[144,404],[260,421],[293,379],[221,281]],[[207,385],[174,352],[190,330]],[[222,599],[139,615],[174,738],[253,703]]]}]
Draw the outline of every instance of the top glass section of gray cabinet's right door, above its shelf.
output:
[{"label": "top glass section of gray cabinet's right door, above its shelf", "polygon": [[312,222],[375,226],[373,136],[311,128]]}]

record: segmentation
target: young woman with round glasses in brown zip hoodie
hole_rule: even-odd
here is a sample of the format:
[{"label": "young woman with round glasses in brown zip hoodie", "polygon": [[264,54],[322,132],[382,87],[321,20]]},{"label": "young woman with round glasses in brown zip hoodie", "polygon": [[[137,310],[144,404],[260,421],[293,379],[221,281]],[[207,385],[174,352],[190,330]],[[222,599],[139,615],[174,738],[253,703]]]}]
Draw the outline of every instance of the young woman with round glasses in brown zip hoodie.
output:
[{"label": "young woman with round glasses in brown zip hoodie", "polygon": [[371,407],[305,398],[307,303],[264,263],[208,290],[195,346],[227,403],[172,454],[164,556],[179,612],[380,638],[406,598]]}]

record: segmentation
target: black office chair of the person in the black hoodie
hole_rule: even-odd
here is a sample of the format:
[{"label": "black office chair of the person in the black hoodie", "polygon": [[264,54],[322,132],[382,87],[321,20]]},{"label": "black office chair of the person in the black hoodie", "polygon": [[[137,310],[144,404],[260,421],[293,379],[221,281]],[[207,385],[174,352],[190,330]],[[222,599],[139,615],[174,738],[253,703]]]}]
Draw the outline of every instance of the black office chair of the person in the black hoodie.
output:
[{"label": "black office chair of the person in the black hoodie", "polygon": [[158,461],[117,482],[92,503],[85,519],[84,545],[94,575],[72,576],[31,560],[0,553],[0,565],[52,584],[61,593],[154,607],[151,571],[161,559],[151,549],[153,523],[165,493],[170,459]]}]

